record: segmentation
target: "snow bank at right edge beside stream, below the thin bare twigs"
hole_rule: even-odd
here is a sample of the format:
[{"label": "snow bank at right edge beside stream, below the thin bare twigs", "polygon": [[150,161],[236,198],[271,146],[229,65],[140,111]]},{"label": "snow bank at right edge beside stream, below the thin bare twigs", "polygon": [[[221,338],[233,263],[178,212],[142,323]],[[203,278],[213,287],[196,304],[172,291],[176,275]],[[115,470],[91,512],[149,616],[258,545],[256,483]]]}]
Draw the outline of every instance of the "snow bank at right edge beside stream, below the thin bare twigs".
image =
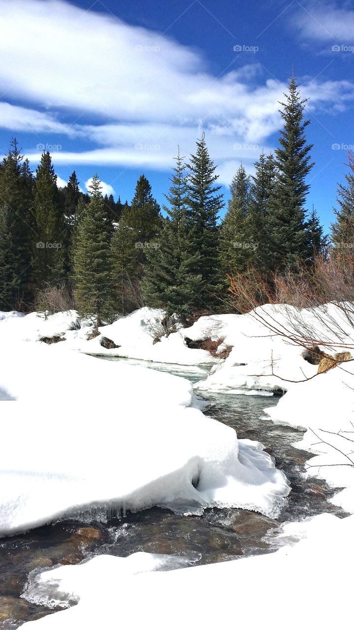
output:
[{"label": "snow bank at right edge beside stream, below the thin bare twigs", "polygon": [[353,363],[338,365],[295,384],[276,407],[265,410],[275,422],[308,429],[295,444],[316,454],[307,462],[307,474],[326,479],[333,488],[344,488],[331,501],[348,512],[354,512],[353,384]]}]

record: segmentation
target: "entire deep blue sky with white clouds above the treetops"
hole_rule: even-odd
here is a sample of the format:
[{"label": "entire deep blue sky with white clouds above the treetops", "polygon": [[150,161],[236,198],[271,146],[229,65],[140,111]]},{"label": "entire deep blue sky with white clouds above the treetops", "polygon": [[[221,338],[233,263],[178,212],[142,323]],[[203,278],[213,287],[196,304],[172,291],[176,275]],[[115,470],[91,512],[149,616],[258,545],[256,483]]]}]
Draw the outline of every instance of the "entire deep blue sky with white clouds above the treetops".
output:
[{"label": "entire deep blue sky with white clouds above the treetops", "polygon": [[[177,145],[205,131],[228,196],[243,161],[277,146],[294,74],[309,97],[316,166],[308,207],[326,228],[354,149],[354,11],[313,0],[0,0],[0,152],[16,135],[59,183],[97,171],[125,201],[144,173],[163,202]],[[334,47],[334,48],[333,48]]]}]

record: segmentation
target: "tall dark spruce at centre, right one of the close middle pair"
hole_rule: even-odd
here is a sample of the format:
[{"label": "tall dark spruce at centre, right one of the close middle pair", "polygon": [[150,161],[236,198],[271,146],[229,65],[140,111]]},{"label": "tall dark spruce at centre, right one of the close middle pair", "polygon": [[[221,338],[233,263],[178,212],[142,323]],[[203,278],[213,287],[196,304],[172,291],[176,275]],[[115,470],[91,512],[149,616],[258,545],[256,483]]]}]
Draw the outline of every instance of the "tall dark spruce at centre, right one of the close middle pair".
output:
[{"label": "tall dark spruce at centre, right one of the close middle pair", "polygon": [[197,150],[191,155],[188,164],[187,180],[187,210],[186,223],[190,251],[198,252],[200,257],[196,261],[191,273],[195,277],[202,277],[203,286],[195,297],[194,306],[197,309],[210,308],[215,301],[215,290],[219,287],[219,230],[217,217],[224,203],[219,193],[221,186],[215,185],[218,175],[216,166],[210,159],[205,134],[197,140]]}]

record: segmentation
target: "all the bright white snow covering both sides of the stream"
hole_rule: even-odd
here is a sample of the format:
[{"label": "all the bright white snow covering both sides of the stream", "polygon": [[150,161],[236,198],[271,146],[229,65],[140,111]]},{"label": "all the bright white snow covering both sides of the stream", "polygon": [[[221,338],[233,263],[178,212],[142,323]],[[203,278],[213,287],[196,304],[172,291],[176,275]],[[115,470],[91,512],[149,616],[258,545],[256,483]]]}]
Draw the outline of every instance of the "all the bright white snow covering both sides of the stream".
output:
[{"label": "all the bright white snow covering both sides of the stream", "polygon": [[[354,512],[354,467],[346,458],[353,458],[354,364],[317,376],[317,366],[305,362],[303,348],[288,338],[312,329],[331,354],[353,345],[341,306],[297,311],[266,305],[245,315],[210,316],[153,343],[151,333],[163,316],[159,309],[139,309],[102,326],[101,336],[120,346],[106,350],[100,336],[87,340],[93,326],[77,320],[76,311],[47,319],[0,314],[0,533],[77,514],[89,518],[93,510],[105,518],[113,508],[163,505],[200,513],[205,507],[244,507],[276,517],[283,505],[287,481],[261,444],[237,440],[231,428],[203,416],[188,381],[82,352],[214,363],[198,387],[232,395],[283,389],[277,406],[266,412],[275,422],[307,429],[296,444],[314,454],[307,474],[343,488],[332,501]],[[38,343],[53,335],[66,341]],[[220,350],[232,350],[226,360],[215,360],[188,348],[186,337],[224,338]],[[258,630],[273,629],[275,618],[286,619],[290,630],[304,620],[321,630],[348,625],[353,525],[354,516],[329,514],[287,524],[272,541],[274,549],[283,545],[275,553],[227,563],[190,566],[188,557],[139,553],[35,571],[24,597],[71,607],[22,627],[96,630],[118,623],[140,627],[154,619],[157,630],[166,622],[171,628],[237,623]]]}]

